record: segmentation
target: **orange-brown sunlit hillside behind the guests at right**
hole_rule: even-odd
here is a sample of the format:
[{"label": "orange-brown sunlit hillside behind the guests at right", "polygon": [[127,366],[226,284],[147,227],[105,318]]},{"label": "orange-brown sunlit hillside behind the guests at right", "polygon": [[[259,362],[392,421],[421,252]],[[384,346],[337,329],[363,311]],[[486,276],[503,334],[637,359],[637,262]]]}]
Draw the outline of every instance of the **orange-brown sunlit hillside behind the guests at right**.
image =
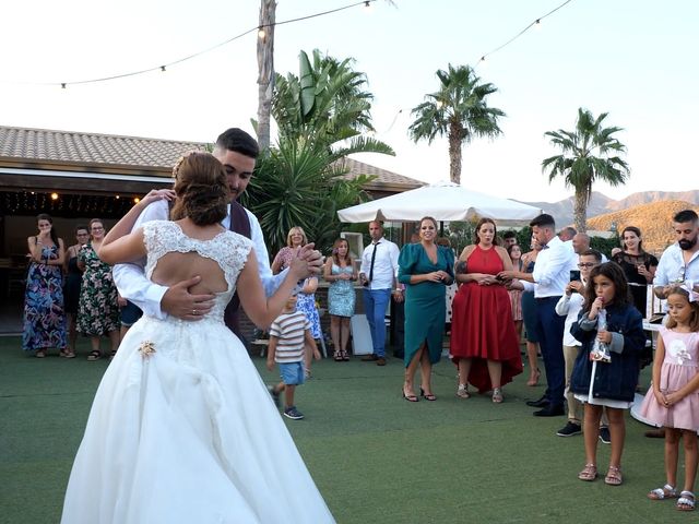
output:
[{"label": "orange-brown sunlit hillside behind the guests at right", "polygon": [[699,205],[682,200],[652,202],[636,205],[626,210],[606,213],[588,219],[588,229],[607,231],[612,224],[621,233],[626,226],[636,226],[641,230],[643,249],[660,257],[663,250],[675,241],[672,229],[673,216],[682,211],[692,209],[699,213]]}]

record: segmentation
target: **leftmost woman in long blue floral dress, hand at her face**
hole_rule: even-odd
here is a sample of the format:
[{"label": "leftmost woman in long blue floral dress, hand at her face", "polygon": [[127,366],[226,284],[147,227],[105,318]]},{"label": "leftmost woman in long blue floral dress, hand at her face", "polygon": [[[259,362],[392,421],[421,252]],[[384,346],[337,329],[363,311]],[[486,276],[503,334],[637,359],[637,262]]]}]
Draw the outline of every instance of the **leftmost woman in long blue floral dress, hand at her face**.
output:
[{"label": "leftmost woman in long blue floral dress, hand at her face", "polygon": [[66,258],[63,240],[56,235],[49,215],[38,215],[36,223],[38,235],[26,239],[32,259],[26,276],[22,349],[36,352],[37,358],[44,358],[49,347],[57,347],[60,355],[67,357],[61,273]]}]

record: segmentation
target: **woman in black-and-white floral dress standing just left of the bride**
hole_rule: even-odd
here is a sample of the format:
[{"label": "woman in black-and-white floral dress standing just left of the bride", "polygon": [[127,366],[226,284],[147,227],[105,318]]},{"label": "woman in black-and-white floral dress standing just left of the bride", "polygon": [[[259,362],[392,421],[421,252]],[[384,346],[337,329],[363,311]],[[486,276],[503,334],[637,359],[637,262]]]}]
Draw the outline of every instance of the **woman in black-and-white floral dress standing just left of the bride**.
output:
[{"label": "woman in black-and-white floral dress standing just left of the bride", "polygon": [[92,352],[87,360],[102,358],[99,338],[107,334],[111,344],[111,356],[119,347],[119,305],[117,288],[111,279],[111,266],[97,257],[97,250],[105,238],[102,221],[90,221],[91,240],[78,254],[78,266],[83,270],[78,306],[78,331],[90,336]]}]

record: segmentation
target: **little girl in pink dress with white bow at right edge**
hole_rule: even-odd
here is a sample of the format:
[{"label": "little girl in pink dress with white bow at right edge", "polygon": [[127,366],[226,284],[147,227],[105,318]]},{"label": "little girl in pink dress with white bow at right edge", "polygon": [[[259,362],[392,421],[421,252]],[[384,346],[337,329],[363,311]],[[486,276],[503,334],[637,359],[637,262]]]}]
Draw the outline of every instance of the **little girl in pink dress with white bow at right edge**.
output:
[{"label": "little girl in pink dress with white bow at right edge", "polygon": [[649,390],[640,413],[665,427],[665,475],[667,484],[648,493],[649,499],[677,497],[679,438],[685,445],[685,486],[677,509],[695,509],[697,476],[697,431],[699,430],[699,294],[690,287],[675,288],[667,296],[667,326],[660,329],[653,389]]}]

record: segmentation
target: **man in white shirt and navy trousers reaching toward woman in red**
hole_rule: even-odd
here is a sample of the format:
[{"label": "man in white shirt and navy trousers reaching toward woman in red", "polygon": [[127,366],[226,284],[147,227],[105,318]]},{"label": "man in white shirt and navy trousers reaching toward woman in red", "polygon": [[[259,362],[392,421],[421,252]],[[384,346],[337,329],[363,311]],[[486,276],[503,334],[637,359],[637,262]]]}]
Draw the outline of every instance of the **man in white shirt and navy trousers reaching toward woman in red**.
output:
[{"label": "man in white shirt and navy trousers reaching toward woman in red", "polygon": [[543,246],[536,257],[534,272],[502,271],[498,276],[507,281],[518,278],[519,284],[511,284],[511,287],[534,291],[537,331],[541,336],[538,342],[546,369],[547,388],[544,396],[526,404],[542,408],[534,412],[534,416],[555,417],[565,415],[566,386],[566,362],[562,353],[565,319],[556,314],[556,303],[570,282],[570,270],[578,266],[578,258],[572,245],[562,242],[556,236],[556,222],[553,216],[545,213],[538,215],[530,223],[530,227],[534,239]]}]

